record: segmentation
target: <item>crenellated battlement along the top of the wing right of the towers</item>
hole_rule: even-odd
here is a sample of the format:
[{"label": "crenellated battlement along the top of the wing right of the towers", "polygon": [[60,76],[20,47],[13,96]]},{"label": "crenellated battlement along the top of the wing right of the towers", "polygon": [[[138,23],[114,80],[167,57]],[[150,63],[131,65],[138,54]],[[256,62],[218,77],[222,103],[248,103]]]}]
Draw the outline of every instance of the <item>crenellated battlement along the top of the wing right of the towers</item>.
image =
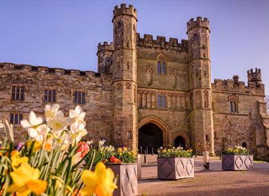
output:
[{"label": "crenellated battlement along the top of the wing right of the towers", "polygon": [[215,79],[214,83],[211,84],[213,91],[230,91],[238,92],[242,94],[264,94],[264,85],[248,82],[248,86],[243,81],[239,81],[239,76],[232,76],[232,79],[221,80]]}]

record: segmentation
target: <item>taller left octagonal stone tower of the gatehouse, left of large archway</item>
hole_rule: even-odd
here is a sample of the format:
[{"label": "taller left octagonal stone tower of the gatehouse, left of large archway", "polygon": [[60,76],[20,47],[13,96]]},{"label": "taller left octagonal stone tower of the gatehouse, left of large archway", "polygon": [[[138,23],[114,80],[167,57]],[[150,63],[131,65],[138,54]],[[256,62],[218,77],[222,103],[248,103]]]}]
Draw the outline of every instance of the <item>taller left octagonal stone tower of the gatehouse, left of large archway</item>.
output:
[{"label": "taller left octagonal stone tower of the gatehouse, left of large archway", "polygon": [[137,148],[137,10],[114,7],[112,101],[114,145]]}]

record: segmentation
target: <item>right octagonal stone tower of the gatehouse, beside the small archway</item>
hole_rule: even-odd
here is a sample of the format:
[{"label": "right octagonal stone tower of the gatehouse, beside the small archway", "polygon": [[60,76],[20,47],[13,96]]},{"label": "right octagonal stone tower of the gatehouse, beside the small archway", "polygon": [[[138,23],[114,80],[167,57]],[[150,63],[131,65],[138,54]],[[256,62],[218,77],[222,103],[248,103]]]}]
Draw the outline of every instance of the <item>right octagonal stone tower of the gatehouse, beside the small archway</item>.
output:
[{"label": "right octagonal stone tower of the gatehouse, beside the small archway", "polygon": [[197,153],[214,153],[209,21],[197,17],[187,25],[192,142]]}]

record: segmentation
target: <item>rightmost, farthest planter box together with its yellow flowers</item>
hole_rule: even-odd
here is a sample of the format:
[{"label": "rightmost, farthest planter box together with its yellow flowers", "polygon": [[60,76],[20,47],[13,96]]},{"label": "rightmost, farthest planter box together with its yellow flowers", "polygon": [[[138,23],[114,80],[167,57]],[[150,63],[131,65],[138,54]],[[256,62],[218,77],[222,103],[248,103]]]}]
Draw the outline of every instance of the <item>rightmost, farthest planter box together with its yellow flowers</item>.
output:
[{"label": "rightmost, farthest planter box together with its yellow flowers", "polygon": [[253,155],[242,146],[229,148],[222,154],[221,165],[223,170],[252,170]]}]

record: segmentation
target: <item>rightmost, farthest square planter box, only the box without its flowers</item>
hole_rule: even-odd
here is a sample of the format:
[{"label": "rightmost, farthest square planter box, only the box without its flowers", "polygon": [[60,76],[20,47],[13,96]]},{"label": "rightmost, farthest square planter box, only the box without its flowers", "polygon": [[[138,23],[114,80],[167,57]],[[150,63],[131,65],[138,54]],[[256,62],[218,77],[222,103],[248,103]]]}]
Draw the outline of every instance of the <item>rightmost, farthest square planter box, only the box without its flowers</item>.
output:
[{"label": "rightmost, farthest square planter box, only the box without its flowers", "polygon": [[252,170],[253,155],[222,155],[223,170]]}]

